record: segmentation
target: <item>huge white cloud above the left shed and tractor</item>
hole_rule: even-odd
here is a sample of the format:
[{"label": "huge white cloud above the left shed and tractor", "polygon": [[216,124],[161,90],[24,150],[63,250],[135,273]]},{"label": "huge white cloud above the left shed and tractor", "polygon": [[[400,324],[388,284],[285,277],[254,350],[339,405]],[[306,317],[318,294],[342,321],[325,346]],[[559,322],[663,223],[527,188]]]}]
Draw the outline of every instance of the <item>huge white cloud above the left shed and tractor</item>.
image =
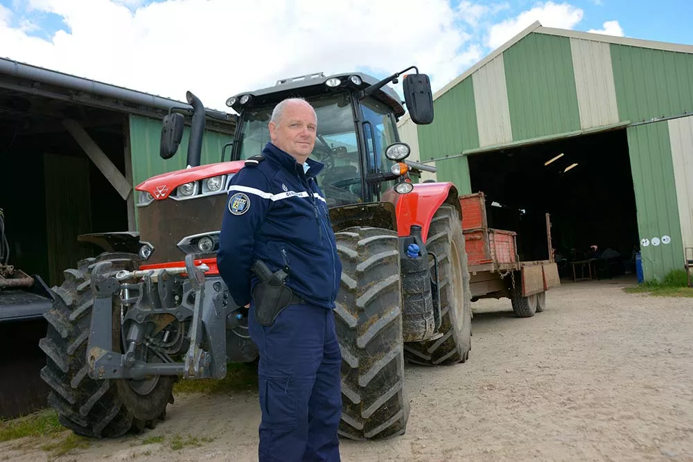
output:
[{"label": "huge white cloud above the left shed and tractor", "polygon": [[3,57],[177,100],[190,89],[222,110],[228,96],[279,78],[357,67],[415,64],[435,91],[482,53],[448,0],[28,1],[63,17],[69,33],[29,36],[0,7]]}]

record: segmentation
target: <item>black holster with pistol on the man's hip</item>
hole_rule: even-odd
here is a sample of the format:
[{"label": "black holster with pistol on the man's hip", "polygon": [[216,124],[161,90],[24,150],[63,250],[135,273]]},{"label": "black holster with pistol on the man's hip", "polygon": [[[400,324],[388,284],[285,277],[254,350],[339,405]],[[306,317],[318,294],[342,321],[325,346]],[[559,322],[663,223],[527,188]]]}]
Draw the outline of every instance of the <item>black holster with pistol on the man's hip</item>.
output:
[{"label": "black holster with pistol on the man's hip", "polygon": [[301,303],[301,299],[284,284],[288,274],[283,269],[272,273],[263,261],[257,260],[252,271],[260,279],[253,288],[252,294],[255,304],[255,321],[261,326],[269,327],[288,305]]}]

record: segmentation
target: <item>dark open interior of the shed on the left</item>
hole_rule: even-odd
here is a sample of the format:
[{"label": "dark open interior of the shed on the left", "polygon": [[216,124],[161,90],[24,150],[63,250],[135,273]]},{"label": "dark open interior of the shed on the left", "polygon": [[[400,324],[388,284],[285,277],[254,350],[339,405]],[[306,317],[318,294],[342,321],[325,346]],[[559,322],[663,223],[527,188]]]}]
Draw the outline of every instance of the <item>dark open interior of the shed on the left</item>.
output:
[{"label": "dark open interior of the shed on the left", "polygon": [[[62,283],[64,269],[99,253],[77,242],[78,234],[128,229],[127,202],[87,157],[65,120],[83,127],[125,172],[127,116],[0,89],[0,208],[7,263],[40,276],[49,287]],[[0,305],[12,301],[12,292],[3,292]],[[46,359],[38,346],[45,332],[41,318],[0,323],[0,418],[45,405],[49,389],[39,373]]]}]

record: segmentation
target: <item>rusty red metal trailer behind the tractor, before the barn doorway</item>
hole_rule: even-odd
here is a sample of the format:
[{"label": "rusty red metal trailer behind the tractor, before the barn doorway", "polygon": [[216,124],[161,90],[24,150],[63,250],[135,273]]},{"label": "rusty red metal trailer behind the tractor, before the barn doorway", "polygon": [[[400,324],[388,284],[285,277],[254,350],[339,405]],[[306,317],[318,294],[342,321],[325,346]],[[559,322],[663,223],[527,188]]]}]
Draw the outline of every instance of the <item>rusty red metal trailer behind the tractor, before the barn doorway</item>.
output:
[{"label": "rusty red metal trailer behind the tractor, before the barn doorway", "polygon": [[511,300],[517,317],[532,317],[546,306],[546,291],[561,285],[546,214],[547,260],[520,261],[517,233],[489,228],[484,193],[461,196],[462,231],[468,256],[471,301]]}]

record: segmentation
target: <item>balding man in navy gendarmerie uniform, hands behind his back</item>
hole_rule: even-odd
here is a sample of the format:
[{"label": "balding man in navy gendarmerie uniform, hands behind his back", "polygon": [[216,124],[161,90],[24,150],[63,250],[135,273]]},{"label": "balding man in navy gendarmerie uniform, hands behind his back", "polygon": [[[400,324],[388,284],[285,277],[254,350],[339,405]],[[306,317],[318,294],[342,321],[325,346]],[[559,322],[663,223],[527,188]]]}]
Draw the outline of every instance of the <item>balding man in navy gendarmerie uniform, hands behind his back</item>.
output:
[{"label": "balding man in navy gendarmerie uniform, hands behind his back", "polygon": [[301,98],[283,100],[269,128],[262,154],[231,180],[219,271],[236,304],[249,303],[260,351],[260,461],[339,461],[342,355],[333,308],[342,265],[315,181],[324,166],[308,159],[315,110]]}]

